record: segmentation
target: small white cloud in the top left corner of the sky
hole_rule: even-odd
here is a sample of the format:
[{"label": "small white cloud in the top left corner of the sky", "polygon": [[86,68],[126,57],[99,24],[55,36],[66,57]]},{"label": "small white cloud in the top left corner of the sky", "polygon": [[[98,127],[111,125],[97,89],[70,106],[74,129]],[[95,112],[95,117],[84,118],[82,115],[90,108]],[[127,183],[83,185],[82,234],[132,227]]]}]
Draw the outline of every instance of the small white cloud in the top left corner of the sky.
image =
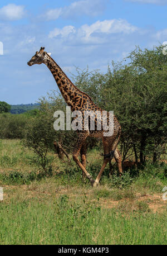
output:
[{"label": "small white cloud in the top left corner of the sky", "polygon": [[24,6],[17,6],[10,3],[0,9],[0,20],[16,21],[20,20],[24,15]]}]

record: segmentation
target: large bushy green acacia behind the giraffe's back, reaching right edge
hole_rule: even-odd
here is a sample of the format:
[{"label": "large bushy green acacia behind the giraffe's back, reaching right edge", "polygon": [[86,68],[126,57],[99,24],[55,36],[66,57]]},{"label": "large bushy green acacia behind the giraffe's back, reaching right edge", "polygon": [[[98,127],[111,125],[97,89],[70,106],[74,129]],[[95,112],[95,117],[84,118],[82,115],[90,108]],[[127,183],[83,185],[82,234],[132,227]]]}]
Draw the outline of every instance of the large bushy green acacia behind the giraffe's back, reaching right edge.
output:
[{"label": "large bushy green acacia behind the giraffe's back, reaching right edge", "polygon": [[153,50],[136,47],[127,64],[112,62],[106,74],[84,70],[76,76],[77,86],[97,105],[114,110],[122,126],[123,160],[130,153],[136,162],[144,163],[150,156],[155,161],[164,150],[167,56],[162,50],[162,46]]}]

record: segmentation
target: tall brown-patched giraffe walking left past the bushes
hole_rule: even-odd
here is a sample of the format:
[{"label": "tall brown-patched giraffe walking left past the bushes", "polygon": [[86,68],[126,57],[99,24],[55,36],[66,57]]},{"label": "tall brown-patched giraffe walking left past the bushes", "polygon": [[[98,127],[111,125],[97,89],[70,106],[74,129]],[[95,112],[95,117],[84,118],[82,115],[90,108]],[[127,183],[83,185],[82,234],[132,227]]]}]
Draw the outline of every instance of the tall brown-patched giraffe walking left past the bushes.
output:
[{"label": "tall brown-patched giraffe walking left past the bushes", "polygon": [[[90,127],[83,126],[82,130],[77,130],[78,138],[77,143],[73,149],[73,160],[77,163],[78,167],[82,170],[85,177],[88,178],[92,184],[92,186],[96,187],[104,171],[107,163],[110,164],[111,167],[111,159],[114,156],[116,163],[119,168],[120,176],[122,174],[122,165],[121,165],[121,154],[117,149],[117,144],[119,142],[121,136],[121,126],[119,121],[114,115],[114,125],[113,125],[113,133],[111,136],[104,136],[104,129],[98,130],[97,124],[99,122],[99,113],[102,113],[102,109],[95,105],[92,101],[91,97],[81,92],[71,80],[67,77],[67,75],[62,71],[62,69],[58,66],[58,64],[51,58],[50,53],[46,53],[44,51],[44,47],[41,47],[40,51],[36,51],[36,54],[32,56],[31,60],[28,61],[28,65],[32,66],[34,64],[46,64],[48,69],[50,69],[55,81],[57,83],[60,92],[65,99],[65,102],[68,106],[71,107],[71,111],[79,110],[82,113],[82,117],[84,120],[85,111],[93,111],[95,113],[95,129],[91,130]],[[104,122],[104,121],[102,121]],[[107,112],[107,118],[105,120],[106,124],[109,124],[109,112]],[[102,167],[100,169],[97,178],[94,180],[91,175],[86,170],[86,138],[95,137],[102,138],[103,148],[104,148],[104,161]],[[78,156],[81,156],[81,162]]]}]

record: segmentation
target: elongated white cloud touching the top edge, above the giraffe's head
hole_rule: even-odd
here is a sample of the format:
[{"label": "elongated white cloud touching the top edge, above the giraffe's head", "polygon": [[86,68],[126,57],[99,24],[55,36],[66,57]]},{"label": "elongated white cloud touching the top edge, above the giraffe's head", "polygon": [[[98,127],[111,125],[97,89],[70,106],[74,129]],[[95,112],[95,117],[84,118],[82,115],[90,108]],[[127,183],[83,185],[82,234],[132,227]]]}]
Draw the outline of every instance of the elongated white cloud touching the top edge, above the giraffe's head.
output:
[{"label": "elongated white cloud touching the top edge, above the giraffe's head", "polygon": [[57,20],[58,17],[73,18],[74,16],[96,16],[105,8],[105,0],[80,0],[73,2],[70,6],[48,10],[42,17],[46,20]]}]

